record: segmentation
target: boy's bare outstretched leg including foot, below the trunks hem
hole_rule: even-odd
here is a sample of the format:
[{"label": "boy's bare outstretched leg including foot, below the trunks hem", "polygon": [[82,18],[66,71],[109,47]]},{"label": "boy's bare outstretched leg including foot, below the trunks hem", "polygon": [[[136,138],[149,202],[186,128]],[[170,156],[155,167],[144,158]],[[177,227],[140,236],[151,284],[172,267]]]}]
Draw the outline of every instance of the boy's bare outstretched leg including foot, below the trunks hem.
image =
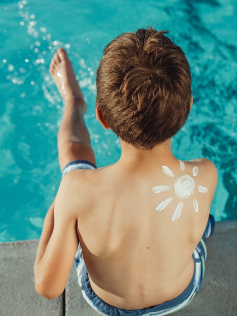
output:
[{"label": "boy's bare outstretched leg including foot, below the trunks hem", "polygon": [[74,160],[87,160],[95,165],[90,136],[83,118],[87,105],[76,80],[67,52],[59,48],[50,63],[50,74],[64,100],[64,116],[58,131],[58,159],[61,171]]}]

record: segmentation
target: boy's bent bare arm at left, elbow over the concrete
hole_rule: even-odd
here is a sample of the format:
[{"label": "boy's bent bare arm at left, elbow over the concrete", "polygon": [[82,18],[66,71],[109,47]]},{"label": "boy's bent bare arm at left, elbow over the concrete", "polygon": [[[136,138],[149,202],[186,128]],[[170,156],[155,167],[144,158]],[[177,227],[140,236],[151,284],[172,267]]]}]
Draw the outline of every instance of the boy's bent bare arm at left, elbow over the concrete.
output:
[{"label": "boy's bent bare arm at left, elbow over the concrete", "polygon": [[63,293],[78,248],[70,178],[65,174],[47,212],[34,264],[35,289],[48,299]]}]

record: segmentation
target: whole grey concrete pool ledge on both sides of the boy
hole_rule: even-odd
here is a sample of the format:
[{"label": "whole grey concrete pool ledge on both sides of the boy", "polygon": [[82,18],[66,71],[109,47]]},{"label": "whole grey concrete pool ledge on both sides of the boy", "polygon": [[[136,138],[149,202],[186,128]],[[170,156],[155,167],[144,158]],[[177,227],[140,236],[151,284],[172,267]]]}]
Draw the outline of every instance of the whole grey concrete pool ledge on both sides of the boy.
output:
[{"label": "whole grey concrete pool ledge on both sides of the boy", "polygon": [[[82,297],[74,266],[62,295],[47,300],[35,292],[33,264],[39,240],[0,244],[1,316],[97,316]],[[234,316],[237,311],[237,220],[216,222],[207,239],[204,281],[177,316]]]}]

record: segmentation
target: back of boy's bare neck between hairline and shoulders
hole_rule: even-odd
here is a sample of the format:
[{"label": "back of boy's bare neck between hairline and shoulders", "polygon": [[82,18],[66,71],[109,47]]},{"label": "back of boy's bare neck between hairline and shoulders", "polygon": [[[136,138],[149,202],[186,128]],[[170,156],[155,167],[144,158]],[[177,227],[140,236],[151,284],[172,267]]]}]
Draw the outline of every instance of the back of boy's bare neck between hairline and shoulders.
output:
[{"label": "back of boy's bare neck between hairline and shoulders", "polygon": [[176,158],[171,151],[171,138],[167,139],[165,143],[156,145],[152,150],[139,150],[131,144],[128,144],[120,139],[122,154],[117,163],[123,167],[143,167],[149,168],[154,166],[155,163],[167,163],[174,161]]}]

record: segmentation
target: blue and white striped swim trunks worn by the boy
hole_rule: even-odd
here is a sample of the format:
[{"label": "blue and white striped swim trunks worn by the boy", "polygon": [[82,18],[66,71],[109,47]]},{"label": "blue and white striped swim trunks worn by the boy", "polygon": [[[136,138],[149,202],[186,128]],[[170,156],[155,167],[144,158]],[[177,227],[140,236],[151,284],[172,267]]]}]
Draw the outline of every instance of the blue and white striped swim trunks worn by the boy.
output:
[{"label": "blue and white striped swim trunks worn by the boy", "polygon": [[[76,160],[68,163],[62,172],[62,177],[68,171],[73,169],[95,169],[96,166],[86,160]],[[194,249],[192,254],[194,260],[194,273],[193,277],[187,286],[187,288],[177,297],[170,301],[166,301],[162,304],[140,308],[140,309],[122,309],[112,306],[105,301],[101,300],[97,296],[90,286],[88,272],[82,256],[82,248],[80,243],[78,244],[78,249],[76,256],[74,258],[74,265],[76,267],[77,278],[79,287],[81,289],[84,299],[88,304],[94,308],[100,315],[109,316],[158,316],[158,315],[168,315],[179,311],[180,309],[187,306],[193,299],[198,289],[200,288],[205,272],[205,261],[207,258],[206,249],[206,238],[211,236],[214,232],[215,220],[212,215],[209,215],[208,223],[204,234],[198,243],[197,247]]]}]

